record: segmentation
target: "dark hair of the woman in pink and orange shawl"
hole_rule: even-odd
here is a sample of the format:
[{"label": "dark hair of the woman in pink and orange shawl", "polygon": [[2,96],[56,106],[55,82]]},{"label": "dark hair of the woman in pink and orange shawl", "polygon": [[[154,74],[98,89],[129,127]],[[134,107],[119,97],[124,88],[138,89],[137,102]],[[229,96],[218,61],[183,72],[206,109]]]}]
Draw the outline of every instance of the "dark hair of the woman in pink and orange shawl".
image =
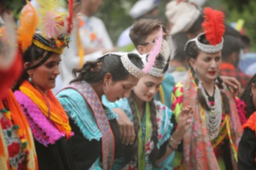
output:
[{"label": "dark hair of the woman in pink and orange shawl", "polygon": [[[44,53],[47,52],[47,54],[44,56]],[[29,75],[27,74],[28,70],[32,70],[37,68],[40,65],[43,65],[45,61],[47,61],[47,59],[49,59],[49,57],[53,54],[53,52],[49,52],[46,51],[42,48],[38,48],[38,46],[36,46],[35,44],[32,43],[32,45],[26,49],[26,51],[22,54],[22,58],[24,63],[29,62],[31,63],[34,60],[37,59],[41,59],[44,57],[44,59],[42,59],[40,62],[38,62],[37,65],[33,65],[30,68],[24,69],[22,76],[20,77],[20,80],[18,80],[15,84],[15,88],[13,89],[18,90],[20,88],[20,85],[22,82],[24,82],[25,80],[28,80]]]}]

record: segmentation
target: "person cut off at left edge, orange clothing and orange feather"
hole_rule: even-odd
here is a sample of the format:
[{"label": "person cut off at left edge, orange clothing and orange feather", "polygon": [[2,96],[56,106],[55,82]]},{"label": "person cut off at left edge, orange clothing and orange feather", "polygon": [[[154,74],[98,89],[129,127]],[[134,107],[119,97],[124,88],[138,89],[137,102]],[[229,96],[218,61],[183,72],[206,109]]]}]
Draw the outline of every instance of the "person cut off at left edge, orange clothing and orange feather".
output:
[{"label": "person cut off at left edge, orange clothing and orange feather", "polygon": [[28,31],[36,30],[34,25],[38,15],[28,3],[20,15],[20,27],[15,31],[12,13],[7,5],[7,2],[0,1],[0,14],[4,20],[4,27],[0,29],[0,169],[37,170],[38,160],[31,129],[9,88],[20,77],[22,49],[30,44],[22,39],[26,37],[27,41],[32,40],[32,34]]}]

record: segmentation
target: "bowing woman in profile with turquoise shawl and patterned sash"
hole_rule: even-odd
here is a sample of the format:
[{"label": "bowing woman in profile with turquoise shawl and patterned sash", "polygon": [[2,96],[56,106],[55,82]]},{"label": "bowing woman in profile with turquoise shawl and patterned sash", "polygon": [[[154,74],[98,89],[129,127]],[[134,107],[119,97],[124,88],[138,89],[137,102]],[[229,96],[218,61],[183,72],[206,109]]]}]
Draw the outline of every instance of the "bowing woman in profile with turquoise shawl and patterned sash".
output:
[{"label": "bowing woman in profile with turquoise shawl and patterned sash", "polygon": [[75,133],[69,146],[77,170],[108,170],[114,158],[133,157],[133,146],[119,141],[117,116],[102,105],[102,95],[113,102],[128,97],[143,75],[142,67],[137,54],[105,54],[74,69],[75,79],[57,94]]}]

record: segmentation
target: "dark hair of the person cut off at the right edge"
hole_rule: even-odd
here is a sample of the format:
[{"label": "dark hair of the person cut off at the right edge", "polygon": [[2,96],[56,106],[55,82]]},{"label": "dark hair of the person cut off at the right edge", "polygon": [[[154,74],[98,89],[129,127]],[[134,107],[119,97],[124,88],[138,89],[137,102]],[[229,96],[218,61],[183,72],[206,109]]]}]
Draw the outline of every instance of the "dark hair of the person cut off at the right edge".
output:
[{"label": "dark hair of the person cut off at the right edge", "polygon": [[247,83],[247,87],[241,94],[241,100],[246,104],[247,118],[256,111],[253,105],[253,94],[252,94],[252,84],[254,84],[254,88],[256,88],[256,74],[251,78],[251,80]]}]

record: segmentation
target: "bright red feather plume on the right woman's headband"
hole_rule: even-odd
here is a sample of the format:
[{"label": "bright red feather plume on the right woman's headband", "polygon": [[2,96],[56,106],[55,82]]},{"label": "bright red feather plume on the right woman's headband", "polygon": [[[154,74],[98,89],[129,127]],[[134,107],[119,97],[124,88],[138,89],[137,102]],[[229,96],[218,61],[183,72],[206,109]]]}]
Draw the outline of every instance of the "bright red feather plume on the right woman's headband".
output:
[{"label": "bright red feather plume on the right woman's headband", "polygon": [[222,37],[224,35],[224,14],[218,10],[213,10],[212,8],[205,8],[205,21],[202,24],[204,28],[207,40],[212,45],[217,45],[222,42]]}]

